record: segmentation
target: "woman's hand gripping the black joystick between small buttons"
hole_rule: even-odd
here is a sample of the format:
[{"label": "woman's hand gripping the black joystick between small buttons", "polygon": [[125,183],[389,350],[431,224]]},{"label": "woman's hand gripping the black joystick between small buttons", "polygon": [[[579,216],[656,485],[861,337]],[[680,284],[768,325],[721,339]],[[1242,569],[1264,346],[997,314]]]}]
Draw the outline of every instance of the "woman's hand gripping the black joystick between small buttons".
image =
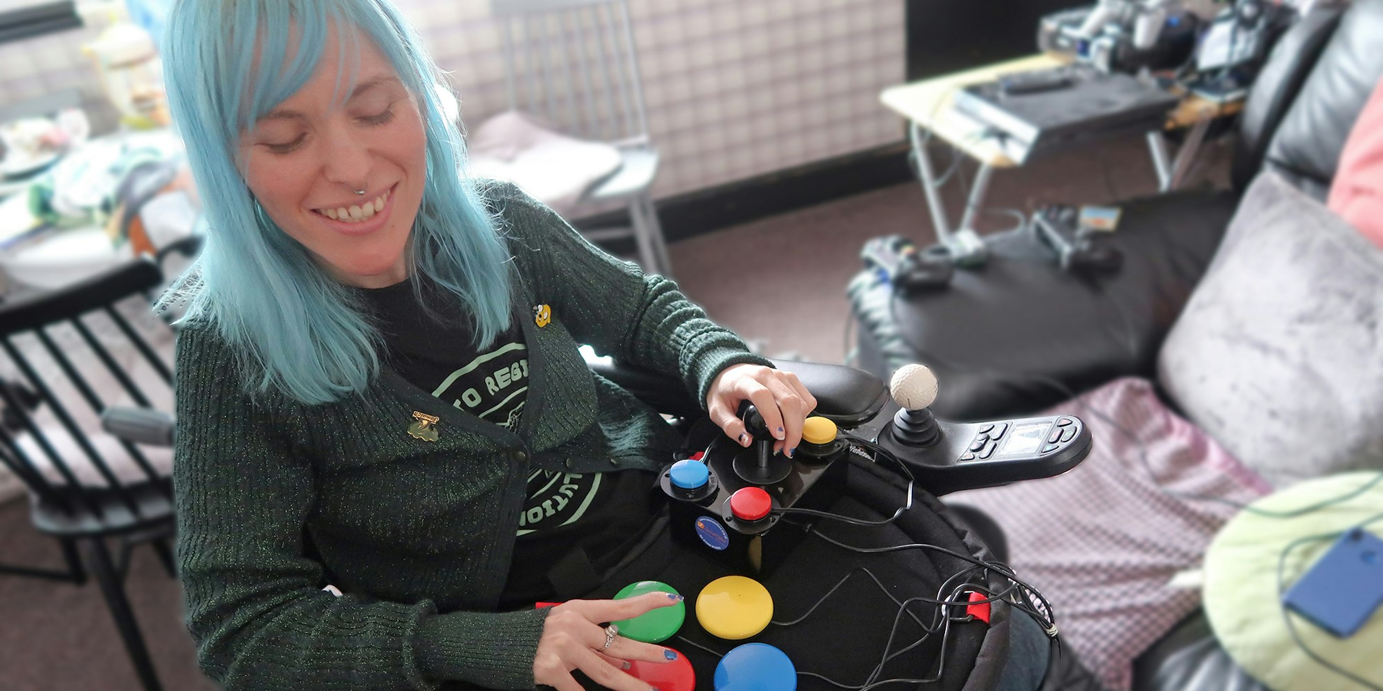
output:
[{"label": "woman's hand gripping the black joystick between small buttons", "polygon": [[769,434],[773,435],[773,453],[787,449],[792,457],[802,439],[802,420],[816,409],[816,398],[797,375],[763,365],[740,363],[721,370],[711,381],[705,394],[705,409],[711,422],[719,424],[725,434],[748,446],[754,442],[744,428],[744,420],[736,415],[740,402],[748,401],[763,416]]}]

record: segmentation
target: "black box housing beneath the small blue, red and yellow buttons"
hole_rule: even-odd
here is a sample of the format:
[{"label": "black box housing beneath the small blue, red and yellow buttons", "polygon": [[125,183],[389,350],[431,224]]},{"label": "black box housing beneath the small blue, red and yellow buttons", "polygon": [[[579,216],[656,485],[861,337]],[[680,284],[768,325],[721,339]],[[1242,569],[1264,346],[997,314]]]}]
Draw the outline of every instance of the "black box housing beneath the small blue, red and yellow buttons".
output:
[{"label": "black box housing beneath the small blue, red and yellow buttons", "polygon": [[765,485],[752,484],[740,477],[734,466],[757,463],[759,444],[765,442],[743,448],[729,437],[712,441],[701,459],[709,471],[709,482],[700,492],[674,486],[668,471],[660,478],[662,492],[671,499],[672,539],[750,576],[770,574],[806,531],[798,525],[784,525],[784,517],[773,511],[752,522],[736,518],[730,510],[730,495],[748,486],[759,486],[769,493],[773,510],[824,511],[839,499],[849,467],[844,446],[824,457],[804,453],[799,446],[797,457],[788,462],[787,477]]}]

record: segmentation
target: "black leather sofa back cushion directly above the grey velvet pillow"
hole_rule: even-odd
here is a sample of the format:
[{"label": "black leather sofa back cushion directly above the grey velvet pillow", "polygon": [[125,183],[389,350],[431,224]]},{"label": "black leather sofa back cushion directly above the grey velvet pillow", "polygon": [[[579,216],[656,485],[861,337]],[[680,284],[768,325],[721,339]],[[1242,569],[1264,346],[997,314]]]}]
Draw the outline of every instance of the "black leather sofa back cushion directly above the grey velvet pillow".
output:
[{"label": "black leather sofa back cushion directly above the grey velvet pillow", "polygon": [[1383,0],[1355,0],[1283,116],[1265,164],[1324,200],[1344,140],[1380,77]]}]

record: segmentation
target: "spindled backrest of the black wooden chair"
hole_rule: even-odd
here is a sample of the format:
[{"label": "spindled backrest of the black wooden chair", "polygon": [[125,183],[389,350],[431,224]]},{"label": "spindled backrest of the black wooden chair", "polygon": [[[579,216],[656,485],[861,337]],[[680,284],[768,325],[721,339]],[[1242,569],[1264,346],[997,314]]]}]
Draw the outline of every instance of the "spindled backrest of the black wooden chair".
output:
[{"label": "spindled backrest of the black wooden chair", "polygon": [[131,488],[169,491],[167,449],[100,428],[111,405],[171,405],[173,333],[149,310],[162,283],[140,258],[0,304],[0,462],[37,500],[100,517],[113,499],[137,515]]}]

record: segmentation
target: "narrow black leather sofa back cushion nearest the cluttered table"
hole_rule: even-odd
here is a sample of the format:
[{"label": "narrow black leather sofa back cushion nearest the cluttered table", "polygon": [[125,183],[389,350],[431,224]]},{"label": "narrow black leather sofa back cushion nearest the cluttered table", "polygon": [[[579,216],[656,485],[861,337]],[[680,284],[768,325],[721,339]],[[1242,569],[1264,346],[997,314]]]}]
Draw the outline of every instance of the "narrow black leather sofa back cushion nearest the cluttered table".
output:
[{"label": "narrow black leather sofa back cushion nearest the cluttered table", "polygon": [[1235,189],[1247,189],[1249,182],[1259,176],[1272,134],[1335,35],[1340,14],[1335,7],[1308,12],[1272,47],[1272,54],[1254,79],[1253,91],[1239,115],[1239,137],[1231,169]]}]

